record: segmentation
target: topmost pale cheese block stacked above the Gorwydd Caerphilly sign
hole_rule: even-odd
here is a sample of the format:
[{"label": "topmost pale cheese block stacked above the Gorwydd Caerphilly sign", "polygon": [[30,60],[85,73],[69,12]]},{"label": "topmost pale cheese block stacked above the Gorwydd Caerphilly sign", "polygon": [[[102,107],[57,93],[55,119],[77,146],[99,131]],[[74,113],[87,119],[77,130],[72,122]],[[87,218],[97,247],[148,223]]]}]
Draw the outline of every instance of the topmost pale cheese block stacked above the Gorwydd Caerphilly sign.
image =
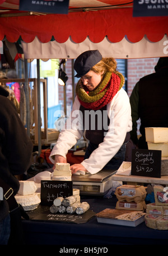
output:
[{"label": "topmost pale cheese block stacked above the Gorwydd Caerphilly sign", "polygon": [[147,142],[152,142],[152,143],[168,142],[168,128],[146,127],[145,136],[146,136]]}]

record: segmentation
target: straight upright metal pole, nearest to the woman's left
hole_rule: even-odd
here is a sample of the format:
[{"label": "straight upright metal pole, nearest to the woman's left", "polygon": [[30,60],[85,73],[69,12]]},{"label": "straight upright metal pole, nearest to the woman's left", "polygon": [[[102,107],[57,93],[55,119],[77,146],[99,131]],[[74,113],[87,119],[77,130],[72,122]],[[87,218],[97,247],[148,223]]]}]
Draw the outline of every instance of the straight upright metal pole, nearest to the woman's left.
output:
[{"label": "straight upright metal pole, nearest to the woman's left", "polygon": [[40,100],[40,60],[37,59],[37,85],[38,85],[38,151],[41,154],[41,100]]}]

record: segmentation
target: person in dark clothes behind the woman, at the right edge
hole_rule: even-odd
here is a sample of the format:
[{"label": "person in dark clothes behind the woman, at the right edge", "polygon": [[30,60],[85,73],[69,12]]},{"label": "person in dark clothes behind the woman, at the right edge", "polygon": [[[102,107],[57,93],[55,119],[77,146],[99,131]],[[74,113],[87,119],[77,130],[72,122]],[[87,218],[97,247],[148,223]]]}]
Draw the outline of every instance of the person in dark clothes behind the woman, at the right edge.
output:
[{"label": "person in dark clothes behind the woman, at the right edge", "polygon": [[[155,73],[141,78],[130,95],[133,129],[130,138],[139,149],[148,149],[145,127],[168,127],[168,57],[161,57]],[[137,120],[141,126],[137,137]]]}]

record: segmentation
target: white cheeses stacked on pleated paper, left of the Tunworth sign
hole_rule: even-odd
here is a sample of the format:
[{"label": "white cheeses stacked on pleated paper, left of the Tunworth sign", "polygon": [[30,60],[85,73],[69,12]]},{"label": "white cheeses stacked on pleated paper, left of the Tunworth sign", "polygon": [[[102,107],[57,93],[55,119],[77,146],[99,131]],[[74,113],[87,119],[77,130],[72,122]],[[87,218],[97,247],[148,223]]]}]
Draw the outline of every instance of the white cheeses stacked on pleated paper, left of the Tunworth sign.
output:
[{"label": "white cheeses stacked on pleated paper, left of the Tunworth sign", "polygon": [[40,204],[40,193],[36,193],[37,187],[34,181],[19,181],[20,188],[15,196],[18,204],[22,205],[24,210],[34,210]]}]

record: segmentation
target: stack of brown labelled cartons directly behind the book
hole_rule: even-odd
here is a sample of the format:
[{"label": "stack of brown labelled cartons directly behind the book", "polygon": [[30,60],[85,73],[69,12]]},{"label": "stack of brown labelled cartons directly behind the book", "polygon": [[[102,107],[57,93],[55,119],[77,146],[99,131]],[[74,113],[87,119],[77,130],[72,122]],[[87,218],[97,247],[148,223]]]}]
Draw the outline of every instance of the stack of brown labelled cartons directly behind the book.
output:
[{"label": "stack of brown labelled cartons directly behind the book", "polygon": [[116,188],[115,193],[118,201],[116,209],[144,210],[146,209],[146,188],[144,186],[122,185]]}]

